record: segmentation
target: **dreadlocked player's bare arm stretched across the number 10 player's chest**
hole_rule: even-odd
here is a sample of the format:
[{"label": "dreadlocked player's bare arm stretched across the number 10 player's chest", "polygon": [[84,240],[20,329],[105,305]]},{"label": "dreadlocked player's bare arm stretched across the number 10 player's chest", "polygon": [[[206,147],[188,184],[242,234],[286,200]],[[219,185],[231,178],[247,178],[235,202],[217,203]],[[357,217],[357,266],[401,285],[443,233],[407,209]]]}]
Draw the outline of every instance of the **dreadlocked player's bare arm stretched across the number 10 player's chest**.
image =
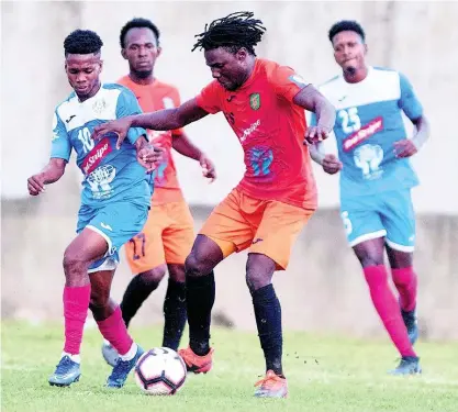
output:
[{"label": "dreadlocked player's bare arm stretched across the number 10 player's chest", "polygon": [[129,115],[100,124],[93,129],[92,138],[98,140],[108,133],[118,134],[118,147],[131,127],[144,127],[157,131],[175,130],[204,118],[208,112],[201,109],[196,99],[188,100],[178,108],[158,110],[152,113]]}]

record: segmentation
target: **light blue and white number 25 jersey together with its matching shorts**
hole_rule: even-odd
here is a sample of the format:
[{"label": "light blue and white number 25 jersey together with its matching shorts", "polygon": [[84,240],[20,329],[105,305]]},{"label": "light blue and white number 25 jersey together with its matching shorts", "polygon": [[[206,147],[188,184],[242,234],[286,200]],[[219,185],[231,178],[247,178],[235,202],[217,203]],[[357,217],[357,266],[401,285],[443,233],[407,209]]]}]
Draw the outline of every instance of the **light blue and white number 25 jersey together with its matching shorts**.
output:
[{"label": "light blue and white number 25 jersey together with its matching shorts", "polygon": [[340,212],[350,246],[386,237],[390,247],[412,252],[411,188],[418,179],[409,158],[394,155],[394,143],[406,138],[402,112],[410,120],[423,115],[411,83],[398,71],[370,67],[360,82],[340,75],[319,89],[336,108]]}]

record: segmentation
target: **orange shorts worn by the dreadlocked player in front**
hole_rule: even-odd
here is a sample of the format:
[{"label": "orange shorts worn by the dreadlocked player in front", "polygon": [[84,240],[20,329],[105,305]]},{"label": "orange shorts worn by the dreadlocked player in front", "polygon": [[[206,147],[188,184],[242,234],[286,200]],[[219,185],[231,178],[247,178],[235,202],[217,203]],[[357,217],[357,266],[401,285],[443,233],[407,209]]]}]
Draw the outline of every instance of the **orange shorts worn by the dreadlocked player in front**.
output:
[{"label": "orange shorts worn by the dreadlocked player in front", "polygon": [[234,189],[212,212],[200,234],[216,242],[227,257],[248,249],[288,266],[292,245],[314,210],[252,198]]}]

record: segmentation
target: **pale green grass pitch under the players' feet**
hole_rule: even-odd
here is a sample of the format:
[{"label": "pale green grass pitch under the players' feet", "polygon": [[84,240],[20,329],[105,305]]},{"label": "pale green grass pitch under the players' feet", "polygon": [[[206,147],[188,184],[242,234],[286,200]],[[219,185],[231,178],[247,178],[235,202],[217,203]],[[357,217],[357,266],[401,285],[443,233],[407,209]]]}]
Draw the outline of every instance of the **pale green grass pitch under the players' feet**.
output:
[{"label": "pale green grass pitch under the players' feet", "polygon": [[[119,391],[103,388],[110,372],[100,355],[100,335],[87,330],[82,377],[71,388],[47,383],[62,349],[60,325],[2,322],[1,411],[458,411],[458,343],[420,343],[423,376],[386,375],[396,365],[388,341],[355,341],[287,333],[286,400],[253,398],[264,370],[256,334],[215,329],[213,370],[189,376],[175,397],[147,397],[130,377]],[[160,329],[133,329],[144,348],[160,342]]]}]

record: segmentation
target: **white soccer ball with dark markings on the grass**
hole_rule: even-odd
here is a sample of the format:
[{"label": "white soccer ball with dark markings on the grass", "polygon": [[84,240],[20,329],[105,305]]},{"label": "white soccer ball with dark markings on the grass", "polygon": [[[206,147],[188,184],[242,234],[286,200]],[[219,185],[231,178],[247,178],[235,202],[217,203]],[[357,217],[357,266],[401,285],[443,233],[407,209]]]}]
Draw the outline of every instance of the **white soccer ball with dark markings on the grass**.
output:
[{"label": "white soccer ball with dark markings on the grass", "polygon": [[187,369],[183,359],[175,350],[155,347],[138,358],[134,377],[146,394],[175,394],[186,381]]}]

